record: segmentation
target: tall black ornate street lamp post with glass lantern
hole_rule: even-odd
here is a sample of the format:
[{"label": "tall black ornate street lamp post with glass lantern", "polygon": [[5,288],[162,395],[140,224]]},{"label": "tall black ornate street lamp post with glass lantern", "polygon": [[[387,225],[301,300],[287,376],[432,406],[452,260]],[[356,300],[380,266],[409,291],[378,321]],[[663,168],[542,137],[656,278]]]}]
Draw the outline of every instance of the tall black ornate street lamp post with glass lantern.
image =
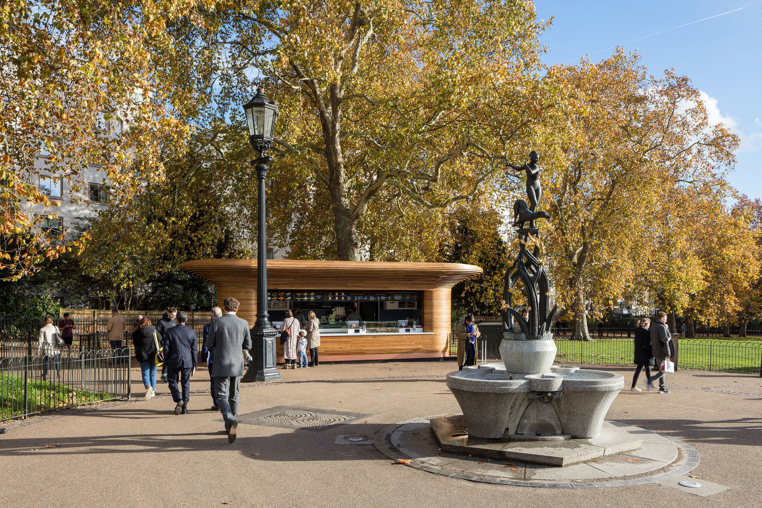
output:
[{"label": "tall black ornate street lamp post with glass lantern", "polygon": [[244,105],[246,123],[248,124],[248,139],[251,146],[259,152],[259,158],[251,161],[257,170],[258,177],[258,210],[257,210],[257,322],[251,329],[251,340],[254,343],[253,359],[243,381],[276,381],[280,372],[275,363],[275,336],[277,331],[270,324],[267,315],[267,244],[265,243],[265,203],[264,184],[267,181],[267,164],[273,160],[265,152],[273,142],[275,119],[278,117],[278,107],[275,101],[270,101],[257,88],[257,94]]}]

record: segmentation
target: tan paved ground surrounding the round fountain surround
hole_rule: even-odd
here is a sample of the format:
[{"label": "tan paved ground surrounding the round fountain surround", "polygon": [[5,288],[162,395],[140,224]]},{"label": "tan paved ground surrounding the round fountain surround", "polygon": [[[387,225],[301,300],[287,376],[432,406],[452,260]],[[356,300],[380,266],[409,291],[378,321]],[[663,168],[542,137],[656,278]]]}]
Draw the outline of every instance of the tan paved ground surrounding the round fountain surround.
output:
[{"label": "tan paved ground surrounding the round fountain surround", "polygon": [[[760,506],[762,379],[680,371],[668,395],[623,391],[607,419],[684,440],[701,455],[696,481],[729,487],[699,497],[658,484],[560,488],[482,484],[395,464],[368,444],[390,423],[459,412],[444,384],[451,362],[326,364],[242,386],[229,445],[208,377],[191,382],[190,414],[174,416],[166,385],[152,401],[115,402],[3,423],[0,506]],[[599,369],[600,367],[594,367]],[[629,387],[632,369],[622,372]],[[133,379],[139,376],[133,376]],[[139,382],[134,390],[140,393]],[[269,415],[293,411],[303,427]],[[336,413],[350,414],[331,427]],[[269,420],[258,418],[267,416]],[[310,423],[310,418],[316,418]],[[266,423],[266,424],[265,424]],[[229,503],[229,504],[226,504]]]}]

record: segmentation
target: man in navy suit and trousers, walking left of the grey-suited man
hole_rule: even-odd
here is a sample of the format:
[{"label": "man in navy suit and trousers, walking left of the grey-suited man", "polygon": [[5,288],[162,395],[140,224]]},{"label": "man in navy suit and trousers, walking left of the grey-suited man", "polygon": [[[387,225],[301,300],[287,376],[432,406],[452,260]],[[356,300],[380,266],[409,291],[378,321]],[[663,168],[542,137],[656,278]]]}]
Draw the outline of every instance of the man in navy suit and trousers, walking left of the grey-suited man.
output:
[{"label": "man in navy suit and trousers, walking left of the grey-suited man", "polygon": [[[196,372],[197,351],[196,332],[185,326],[187,314],[177,314],[178,324],[165,332],[164,357],[167,365],[169,391],[175,402],[174,414],[187,414],[188,398],[191,395],[191,375]],[[178,389],[178,377],[182,384],[182,394]]]}]

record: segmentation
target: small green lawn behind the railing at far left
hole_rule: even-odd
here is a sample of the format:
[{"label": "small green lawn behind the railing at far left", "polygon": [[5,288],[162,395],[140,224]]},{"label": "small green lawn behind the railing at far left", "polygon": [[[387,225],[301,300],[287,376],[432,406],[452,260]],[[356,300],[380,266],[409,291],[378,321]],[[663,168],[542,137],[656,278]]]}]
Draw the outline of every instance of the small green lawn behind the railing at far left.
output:
[{"label": "small green lawn behind the railing at far left", "polygon": [[0,420],[113,398],[102,391],[82,390],[55,382],[30,379],[28,383],[27,411],[24,411],[24,377],[0,372]]}]

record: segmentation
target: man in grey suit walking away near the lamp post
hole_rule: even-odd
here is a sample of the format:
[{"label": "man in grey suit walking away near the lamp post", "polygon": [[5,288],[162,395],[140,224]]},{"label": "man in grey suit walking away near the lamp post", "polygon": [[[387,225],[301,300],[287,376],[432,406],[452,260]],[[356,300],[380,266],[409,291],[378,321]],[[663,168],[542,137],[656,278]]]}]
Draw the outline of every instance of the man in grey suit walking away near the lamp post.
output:
[{"label": "man in grey suit walking away near the lamp post", "polygon": [[226,298],[225,315],[212,321],[207,347],[214,348],[212,375],[217,391],[217,405],[225,420],[228,443],[235,441],[238,430],[239,386],[243,375],[244,350],[251,349],[248,321],[235,315],[239,301]]}]

